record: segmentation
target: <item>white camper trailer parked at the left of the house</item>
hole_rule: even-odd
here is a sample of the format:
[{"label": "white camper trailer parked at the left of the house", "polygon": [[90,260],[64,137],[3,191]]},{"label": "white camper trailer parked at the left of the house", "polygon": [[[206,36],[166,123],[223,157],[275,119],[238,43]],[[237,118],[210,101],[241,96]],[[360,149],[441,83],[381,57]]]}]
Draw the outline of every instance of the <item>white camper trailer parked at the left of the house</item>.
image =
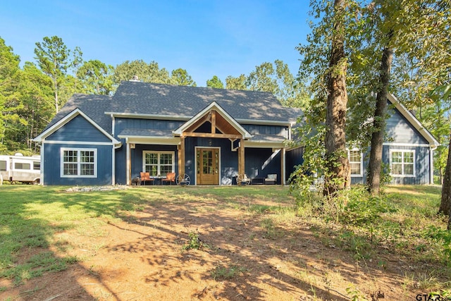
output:
[{"label": "white camper trailer parked at the left of the house", "polygon": [[41,182],[41,157],[0,155],[0,184],[3,180],[39,184]]}]

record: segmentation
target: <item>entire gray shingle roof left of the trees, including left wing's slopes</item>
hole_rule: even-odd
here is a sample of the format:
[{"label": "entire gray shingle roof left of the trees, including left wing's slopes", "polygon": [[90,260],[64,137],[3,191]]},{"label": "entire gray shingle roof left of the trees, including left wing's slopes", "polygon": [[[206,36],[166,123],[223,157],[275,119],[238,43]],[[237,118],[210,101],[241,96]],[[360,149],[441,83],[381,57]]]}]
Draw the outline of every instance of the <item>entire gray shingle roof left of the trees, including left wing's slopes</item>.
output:
[{"label": "entire gray shingle roof left of the trees, including left wing's slopes", "polygon": [[113,97],[74,94],[44,130],[74,109],[80,109],[111,133],[106,112],[191,118],[216,102],[235,120],[294,122],[299,109],[285,108],[268,92],[212,89],[124,81]]}]

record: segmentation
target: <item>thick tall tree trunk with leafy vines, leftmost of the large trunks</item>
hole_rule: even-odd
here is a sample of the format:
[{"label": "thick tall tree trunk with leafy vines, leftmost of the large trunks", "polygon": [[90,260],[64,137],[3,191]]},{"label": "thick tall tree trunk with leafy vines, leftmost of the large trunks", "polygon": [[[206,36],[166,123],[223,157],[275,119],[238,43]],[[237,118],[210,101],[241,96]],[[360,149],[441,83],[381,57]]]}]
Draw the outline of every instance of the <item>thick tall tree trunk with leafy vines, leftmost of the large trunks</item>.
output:
[{"label": "thick tall tree trunk with leafy vines, leftmost of the large trunks", "polygon": [[350,185],[350,164],[346,152],[346,56],[344,47],[344,0],[335,0],[335,28],[329,61],[326,113],[326,159],[328,172],[323,195],[333,195]]}]

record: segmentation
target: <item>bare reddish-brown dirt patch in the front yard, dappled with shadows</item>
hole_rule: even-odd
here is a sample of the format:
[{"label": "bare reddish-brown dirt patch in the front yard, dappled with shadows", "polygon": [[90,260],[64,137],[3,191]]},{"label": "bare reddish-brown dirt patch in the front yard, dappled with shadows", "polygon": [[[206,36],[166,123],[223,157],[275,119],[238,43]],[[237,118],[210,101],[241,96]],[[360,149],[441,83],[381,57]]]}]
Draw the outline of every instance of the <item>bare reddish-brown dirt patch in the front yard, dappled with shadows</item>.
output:
[{"label": "bare reddish-brown dirt patch in the front yard, dappled with shadows", "polygon": [[388,250],[376,250],[377,262],[356,261],[300,220],[273,224],[271,211],[242,208],[161,202],[123,219],[92,219],[90,228],[57,233],[51,248],[77,263],[0,300],[418,300],[424,293],[406,283],[421,266]]}]

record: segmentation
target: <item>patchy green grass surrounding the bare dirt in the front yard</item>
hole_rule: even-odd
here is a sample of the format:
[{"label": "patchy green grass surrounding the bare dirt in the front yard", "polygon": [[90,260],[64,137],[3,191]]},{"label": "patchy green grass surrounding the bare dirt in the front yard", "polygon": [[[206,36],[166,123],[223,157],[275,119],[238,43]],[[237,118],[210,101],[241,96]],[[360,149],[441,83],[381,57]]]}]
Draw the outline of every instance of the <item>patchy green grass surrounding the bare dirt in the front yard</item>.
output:
[{"label": "patchy green grass surrounding the bare dirt in the front yard", "polygon": [[[254,233],[249,240],[264,238],[276,245],[278,239],[287,235],[295,240],[295,233],[289,233],[285,226],[305,226],[323,245],[350,252],[357,262],[374,260],[381,270],[390,262],[379,258],[376,250],[400,254],[412,262],[443,266],[439,271],[425,268],[424,274],[406,277],[411,277],[410,283],[424,290],[449,287],[450,283],[440,282],[440,279],[451,276],[450,258],[443,252],[443,242],[428,232],[431,228],[445,228],[445,218],[436,214],[440,188],[390,186],[384,193],[383,202],[356,204],[354,209],[342,209],[341,213],[335,208],[337,216],[322,216],[308,204],[296,208],[288,188],[280,186],[163,187],[68,193],[65,187],[4,185],[0,186],[0,278],[11,279],[19,285],[46,272],[67,269],[82,259],[61,257],[49,251],[51,247],[61,252],[70,248],[70,240],[57,238],[57,233],[75,230],[87,238],[101,238],[106,235],[100,230],[101,226],[109,221],[132,221],[135,212],[167,203],[190,212],[240,210],[243,212],[241,225],[245,225],[245,218],[259,221],[261,233]],[[269,201],[276,205],[265,204]],[[196,204],[200,205],[196,207]],[[183,249],[208,247],[203,243],[199,234],[193,232]],[[27,256],[30,250],[32,255]],[[211,277],[233,278],[244,271],[243,266],[219,265],[211,271]],[[307,270],[299,273],[298,277],[310,277]],[[6,288],[0,287],[0,292],[2,290]],[[350,297],[359,295],[357,290],[350,289],[349,293]]]}]

